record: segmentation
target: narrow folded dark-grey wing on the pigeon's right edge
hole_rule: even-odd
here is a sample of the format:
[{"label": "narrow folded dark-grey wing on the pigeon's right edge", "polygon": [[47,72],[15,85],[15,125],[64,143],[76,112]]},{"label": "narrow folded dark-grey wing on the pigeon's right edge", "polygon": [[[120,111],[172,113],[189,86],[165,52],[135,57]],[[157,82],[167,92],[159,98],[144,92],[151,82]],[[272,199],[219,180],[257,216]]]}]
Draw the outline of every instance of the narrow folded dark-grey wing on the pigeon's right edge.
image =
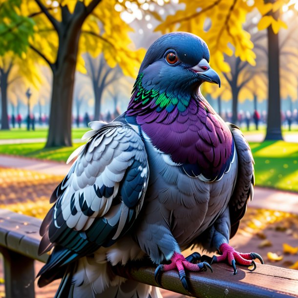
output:
[{"label": "narrow folded dark-grey wing on the pigeon's right edge", "polygon": [[234,192],[229,202],[231,234],[236,234],[240,219],[244,216],[249,199],[253,199],[255,185],[254,158],[248,142],[234,124],[228,124],[238,155],[238,174]]}]

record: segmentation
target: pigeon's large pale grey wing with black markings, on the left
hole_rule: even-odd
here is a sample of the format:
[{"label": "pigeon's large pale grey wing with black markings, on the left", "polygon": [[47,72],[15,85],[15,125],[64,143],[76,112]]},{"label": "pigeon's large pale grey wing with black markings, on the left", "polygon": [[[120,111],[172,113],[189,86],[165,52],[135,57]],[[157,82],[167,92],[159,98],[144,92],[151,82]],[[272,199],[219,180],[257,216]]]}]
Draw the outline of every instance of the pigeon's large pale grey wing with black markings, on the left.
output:
[{"label": "pigeon's large pale grey wing with black markings, on the left", "polygon": [[40,274],[109,246],[136,219],[148,184],[147,153],[128,125],[91,124],[91,139],[54,191],[40,233],[39,253],[54,253]]}]

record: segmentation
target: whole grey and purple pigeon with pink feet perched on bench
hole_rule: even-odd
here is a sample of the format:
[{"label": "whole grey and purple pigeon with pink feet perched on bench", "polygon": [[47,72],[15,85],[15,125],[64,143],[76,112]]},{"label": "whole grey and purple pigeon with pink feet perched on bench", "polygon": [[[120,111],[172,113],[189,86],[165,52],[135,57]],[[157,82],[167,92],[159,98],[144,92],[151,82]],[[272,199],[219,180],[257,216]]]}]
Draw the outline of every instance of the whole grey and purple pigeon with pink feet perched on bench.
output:
[{"label": "whole grey and purple pigeon with pink feet perched on bench", "polygon": [[[117,276],[113,266],[149,258],[155,279],[213,262],[252,266],[256,253],[229,245],[253,198],[254,159],[240,129],[225,123],[200,92],[218,84],[199,37],[157,39],[140,66],[127,110],[91,122],[68,174],[53,192],[39,254],[52,250],[39,286],[62,278],[56,298],[159,298],[159,289]],[[199,246],[221,255],[181,252]],[[251,268],[251,267],[250,267]]]}]

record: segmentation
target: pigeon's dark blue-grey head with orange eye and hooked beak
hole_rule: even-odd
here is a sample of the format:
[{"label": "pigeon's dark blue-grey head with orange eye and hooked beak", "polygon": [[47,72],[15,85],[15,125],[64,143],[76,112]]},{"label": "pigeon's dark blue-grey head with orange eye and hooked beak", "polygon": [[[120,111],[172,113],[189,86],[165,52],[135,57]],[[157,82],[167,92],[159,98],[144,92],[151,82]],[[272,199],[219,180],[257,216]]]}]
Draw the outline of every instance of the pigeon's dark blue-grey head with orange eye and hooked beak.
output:
[{"label": "pigeon's dark blue-grey head with orange eye and hooked beak", "polygon": [[186,32],[166,34],[148,49],[139,77],[145,89],[168,94],[193,94],[203,82],[220,86],[218,74],[209,65],[207,44]]}]

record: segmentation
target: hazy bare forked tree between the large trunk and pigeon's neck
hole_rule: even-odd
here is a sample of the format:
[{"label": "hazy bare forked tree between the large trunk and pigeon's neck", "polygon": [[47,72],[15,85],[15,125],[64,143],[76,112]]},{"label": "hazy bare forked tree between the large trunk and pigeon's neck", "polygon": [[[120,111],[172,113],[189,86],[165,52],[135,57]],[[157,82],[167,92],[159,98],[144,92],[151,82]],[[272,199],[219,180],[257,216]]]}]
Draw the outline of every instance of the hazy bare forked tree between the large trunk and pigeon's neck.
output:
[{"label": "hazy bare forked tree between the large trunk and pigeon's neck", "polygon": [[94,91],[94,120],[99,120],[101,112],[102,96],[105,89],[113,82],[123,76],[121,68],[116,66],[111,68],[105,61],[103,55],[92,59],[90,55],[85,58],[87,73],[90,76]]}]

